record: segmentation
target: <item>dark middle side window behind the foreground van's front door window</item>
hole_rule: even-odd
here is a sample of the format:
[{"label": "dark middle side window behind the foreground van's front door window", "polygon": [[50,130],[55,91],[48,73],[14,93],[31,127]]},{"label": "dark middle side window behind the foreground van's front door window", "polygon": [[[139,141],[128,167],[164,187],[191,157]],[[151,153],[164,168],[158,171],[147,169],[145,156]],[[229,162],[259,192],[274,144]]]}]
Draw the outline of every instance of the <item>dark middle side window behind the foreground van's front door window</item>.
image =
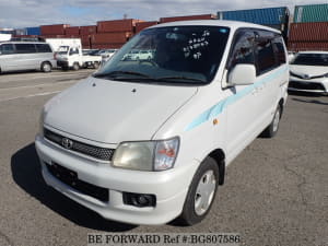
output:
[{"label": "dark middle side window behind the foreground van's front door window", "polygon": [[262,74],[278,67],[271,39],[272,37],[262,36],[262,34],[256,39],[257,74]]}]

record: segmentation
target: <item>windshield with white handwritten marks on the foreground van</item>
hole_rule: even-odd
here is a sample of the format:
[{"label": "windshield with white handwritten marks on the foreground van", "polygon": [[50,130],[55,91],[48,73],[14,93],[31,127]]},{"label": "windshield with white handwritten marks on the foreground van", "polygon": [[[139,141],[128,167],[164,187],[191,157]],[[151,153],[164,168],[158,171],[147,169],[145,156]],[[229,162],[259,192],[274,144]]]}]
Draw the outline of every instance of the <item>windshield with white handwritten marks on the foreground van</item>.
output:
[{"label": "windshield with white handwritten marks on the foreground van", "polygon": [[141,32],[94,74],[131,82],[210,83],[220,66],[230,30],[169,26]]}]

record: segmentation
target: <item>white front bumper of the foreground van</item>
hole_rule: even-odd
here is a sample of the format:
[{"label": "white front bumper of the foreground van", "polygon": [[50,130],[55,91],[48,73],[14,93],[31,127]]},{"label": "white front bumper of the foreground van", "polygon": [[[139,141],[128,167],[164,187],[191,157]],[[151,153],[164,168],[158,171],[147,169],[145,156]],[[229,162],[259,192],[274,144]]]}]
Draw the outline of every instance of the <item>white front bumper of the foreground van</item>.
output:
[{"label": "white front bumper of the foreground van", "polygon": [[[37,136],[37,154],[45,181],[72,200],[97,212],[105,219],[131,224],[164,224],[178,216],[184,207],[190,178],[199,165],[197,161],[185,167],[165,172],[136,172],[115,168],[109,164],[68,153]],[[109,201],[104,202],[78,191],[52,176],[47,164],[57,163],[78,174],[79,179],[106,188]],[[122,192],[151,194],[156,196],[155,207],[137,208],[125,204]]]}]

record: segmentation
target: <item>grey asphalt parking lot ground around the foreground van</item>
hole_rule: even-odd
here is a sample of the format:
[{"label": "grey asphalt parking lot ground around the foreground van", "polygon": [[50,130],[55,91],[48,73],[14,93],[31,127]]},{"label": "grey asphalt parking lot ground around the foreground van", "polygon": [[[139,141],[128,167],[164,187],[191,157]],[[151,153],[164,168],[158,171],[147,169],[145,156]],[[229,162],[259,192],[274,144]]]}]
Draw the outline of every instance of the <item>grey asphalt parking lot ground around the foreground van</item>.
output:
[{"label": "grey asphalt parking lot ground around the foreground van", "polygon": [[[68,73],[67,80],[74,83],[87,72]],[[37,77],[36,82],[27,75]],[[52,79],[27,75],[0,75],[0,86],[7,83],[3,78],[14,86],[66,81],[61,73],[51,73]],[[327,96],[290,95],[277,137],[258,138],[246,148],[227,167],[225,185],[219,187],[206,220],[185,227],[106,221],[47,187],[34,138],[40,109],[56,90],[48,95],[28,93],[2,101],[0,96],[1,246],[86,245],[87,233],[95,232],[238,233],[242,245],[249,246],[328,245]]]}]

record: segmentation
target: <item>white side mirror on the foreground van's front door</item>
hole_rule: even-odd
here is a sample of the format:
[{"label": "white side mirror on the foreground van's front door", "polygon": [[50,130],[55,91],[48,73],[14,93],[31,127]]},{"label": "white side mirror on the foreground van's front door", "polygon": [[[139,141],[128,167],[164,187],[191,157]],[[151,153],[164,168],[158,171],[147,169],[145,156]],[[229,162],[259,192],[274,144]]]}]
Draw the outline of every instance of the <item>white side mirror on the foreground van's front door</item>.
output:
[{"label": "white side mirror on the foreground van's front door", "polygon": [[254,65],[236,65],[229,73],[229,85],[247,85],[256,81],[256,69]]}]

